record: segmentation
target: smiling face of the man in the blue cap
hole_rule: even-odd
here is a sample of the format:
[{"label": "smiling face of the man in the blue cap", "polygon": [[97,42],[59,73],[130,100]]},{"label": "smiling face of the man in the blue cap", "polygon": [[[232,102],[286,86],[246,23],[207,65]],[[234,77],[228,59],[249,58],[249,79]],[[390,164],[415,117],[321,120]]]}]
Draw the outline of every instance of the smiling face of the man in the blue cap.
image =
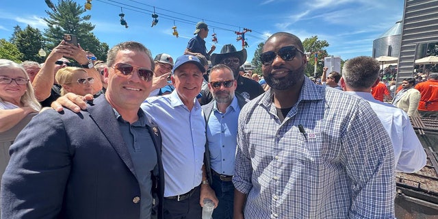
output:
[{"label": "smiling face of the man in the blue cap", "polygon": [[175,74],[171,79],[181,101],[191,108],[194,98],[201,92],[204,79],[201,70],[196,64],[188,62],[175,69]]}]

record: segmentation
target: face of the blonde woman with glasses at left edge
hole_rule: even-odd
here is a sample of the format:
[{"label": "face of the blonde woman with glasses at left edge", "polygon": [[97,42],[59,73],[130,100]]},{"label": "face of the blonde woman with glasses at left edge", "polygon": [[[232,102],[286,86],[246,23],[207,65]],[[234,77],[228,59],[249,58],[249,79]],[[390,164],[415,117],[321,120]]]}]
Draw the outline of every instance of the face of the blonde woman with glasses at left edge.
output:
[{"label": "face of the blonde woman with glasses at left edge", "polygon": [[[23,70],[12,66],[3,66],[0,68],[0,77],[27,79],[25,74],[26,73],[24,73]],[[8,101],[21,107],[21,96],[23,96],[25,92],[26,85],[18,85],[14,80],[9,84],[0,83],[0,98],[3,101]]]}]

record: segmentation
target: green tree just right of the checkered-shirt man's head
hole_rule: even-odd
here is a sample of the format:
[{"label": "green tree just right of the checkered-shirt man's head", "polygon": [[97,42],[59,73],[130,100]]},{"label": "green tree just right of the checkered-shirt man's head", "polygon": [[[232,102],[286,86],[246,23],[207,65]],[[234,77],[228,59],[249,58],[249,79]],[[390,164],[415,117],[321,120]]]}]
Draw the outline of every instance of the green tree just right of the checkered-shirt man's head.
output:
[{"label": "green tree just right of the checkered-shirt man's head", "polygon": [[329,42],[327,42],[326,40],[318,40],[318,36],[311,36],[311,38],[305,38],[305,40],[302,41],[302,47],[304,47],[304,52],[309,53],[309,62],[307,62],[305,74],[307,76],[313,76],[315,68],[315,53],[318,53],[316,76],[321,76],[322,67],[324,67],[324,64],[319,64],[319,62],[321,62],[320,60],[322,60],[322,63],[324,63],[324,57],[328,55],[326,47],[329,47]]}]

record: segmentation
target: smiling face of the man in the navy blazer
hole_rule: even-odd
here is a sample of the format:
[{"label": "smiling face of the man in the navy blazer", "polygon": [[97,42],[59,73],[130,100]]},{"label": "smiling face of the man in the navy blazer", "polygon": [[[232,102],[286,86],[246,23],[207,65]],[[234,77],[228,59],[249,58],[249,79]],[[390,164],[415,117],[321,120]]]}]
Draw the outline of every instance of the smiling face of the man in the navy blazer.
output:
[{"label": "smiling face of the man in the navy blazer", "polygon": [[[105,96],[119,113],[120,110],[138,110],[141,103],[151,92],[152,80],[145,81],[138,75],[138,68],[152,70],[152,60],[140,51],[120,50],[116,54],[113,66],[105,68],[105,81],[108,83]],[[123,75],[114,66],[118,63],[131,64],[131,75]]]}]

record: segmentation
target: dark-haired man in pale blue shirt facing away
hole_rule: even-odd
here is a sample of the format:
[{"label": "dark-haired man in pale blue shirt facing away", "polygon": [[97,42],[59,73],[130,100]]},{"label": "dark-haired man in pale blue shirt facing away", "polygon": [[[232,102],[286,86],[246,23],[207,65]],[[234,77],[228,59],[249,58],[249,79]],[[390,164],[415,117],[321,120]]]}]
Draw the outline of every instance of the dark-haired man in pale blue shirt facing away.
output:
[{"label": "dark-haired man in pale blue shirt facing away", "polygon": [[374,99],[370,90],[378,83],[380,66],[372,57],[359,56],[344,64],[341,86],[353,96],[365,99],[385,127],[394,148],[396,171],[417,172],[426,165],[426,153],[403,110]]}]

